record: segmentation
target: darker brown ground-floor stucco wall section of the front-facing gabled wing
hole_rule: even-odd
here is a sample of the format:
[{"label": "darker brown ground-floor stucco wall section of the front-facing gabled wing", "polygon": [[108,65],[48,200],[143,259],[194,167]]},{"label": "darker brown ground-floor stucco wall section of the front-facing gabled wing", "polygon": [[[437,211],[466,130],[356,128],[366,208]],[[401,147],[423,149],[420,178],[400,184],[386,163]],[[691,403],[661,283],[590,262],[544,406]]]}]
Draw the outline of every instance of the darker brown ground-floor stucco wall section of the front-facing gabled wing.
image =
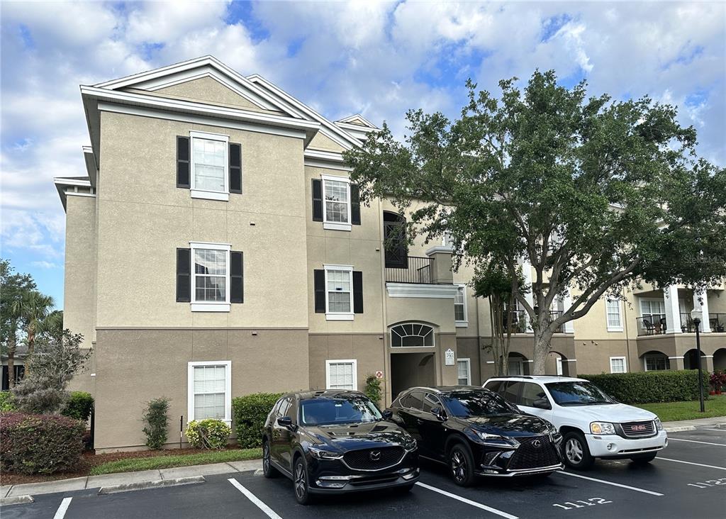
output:
[{"label": "darker brown ground-floor stucco wall section of the front-facing gabled wing", "polygon": [[[144,444],[145,404],[170,399],[168,431],[178,445],[187,422],[187,363],[232,361],[232,397],[309,387],[306,330],[99,330],[96,349],[96,449]],[[290,369],[302,367],[302,369]],[[284,376],[281,376],[284,374]]]}]

